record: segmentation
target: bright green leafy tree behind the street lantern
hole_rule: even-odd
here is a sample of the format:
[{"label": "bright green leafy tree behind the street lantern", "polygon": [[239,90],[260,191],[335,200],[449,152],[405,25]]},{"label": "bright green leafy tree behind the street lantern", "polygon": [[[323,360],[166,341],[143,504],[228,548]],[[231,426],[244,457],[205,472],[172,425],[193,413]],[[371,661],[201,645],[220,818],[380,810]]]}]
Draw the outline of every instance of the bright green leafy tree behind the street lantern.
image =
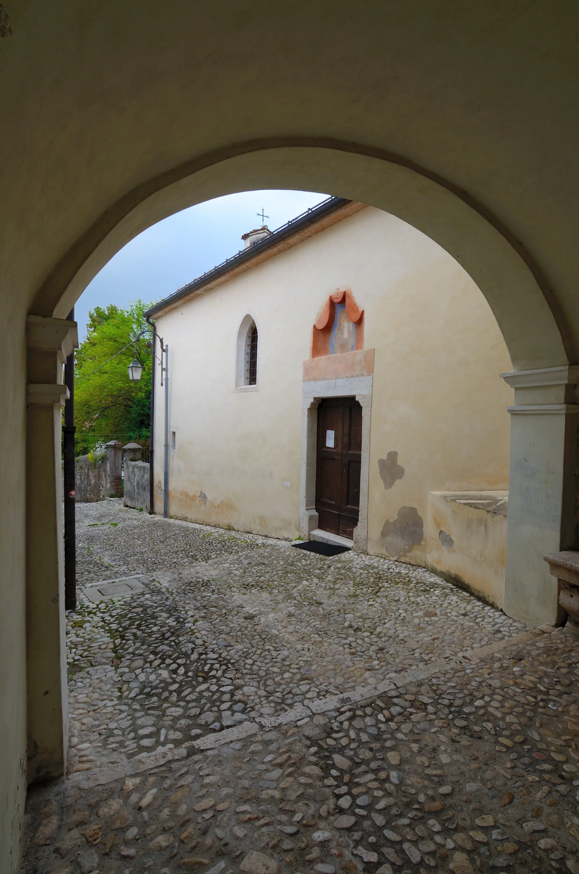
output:
[{"label": "bright green leafy tree behind the street lantern", "polygon": [[76,453],[86,454],[108,440],[147,440],[150,435],[151,334],[141,338],[136,357],[143,364],[139,382],[130,382],[132,341],[148,328],[140,300],[127,309],[109,303],[88,314],[87,339],[80,343],[74,369]]}]

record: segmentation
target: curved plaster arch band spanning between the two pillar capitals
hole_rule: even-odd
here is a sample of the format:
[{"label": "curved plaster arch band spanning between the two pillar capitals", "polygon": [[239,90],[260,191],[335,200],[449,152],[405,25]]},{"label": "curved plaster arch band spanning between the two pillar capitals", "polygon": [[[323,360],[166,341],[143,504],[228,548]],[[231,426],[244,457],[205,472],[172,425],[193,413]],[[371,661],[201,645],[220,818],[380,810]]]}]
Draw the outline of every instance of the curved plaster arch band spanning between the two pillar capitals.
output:
[{"label": "curved plaster arch band spanning between the two pillar capitals", "polygon": [[[505,337],[513,369],[567,364],[564,330],[539,267],[471,198],[387,153],[352,144],[248,143],[202,156],[130,191],[87,229],[39,289],[32,311],[64,318],[101,267],[145,228],[234,191],[329,191],[414,225],[443,246],[477,283]],[[555,314],[555,315],[554,315]],[[557,316],[557,318],[555,318]],[[569,347],[569,343],[567,343]]]}]

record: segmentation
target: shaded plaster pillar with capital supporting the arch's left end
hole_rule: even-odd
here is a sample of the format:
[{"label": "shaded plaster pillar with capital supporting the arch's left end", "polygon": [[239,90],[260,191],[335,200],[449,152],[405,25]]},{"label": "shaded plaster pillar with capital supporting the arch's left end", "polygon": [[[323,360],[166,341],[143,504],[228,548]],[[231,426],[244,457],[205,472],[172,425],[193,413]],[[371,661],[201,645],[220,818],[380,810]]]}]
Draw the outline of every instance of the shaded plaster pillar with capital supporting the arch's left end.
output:
[{"label": "shaded plaster pillar with capital supporting the arch's left end", "polygon": [[66,770],[68,693],[61,481],[63,364],[76,323],[28,316],[26,413],[26,650],[28,781]]}]

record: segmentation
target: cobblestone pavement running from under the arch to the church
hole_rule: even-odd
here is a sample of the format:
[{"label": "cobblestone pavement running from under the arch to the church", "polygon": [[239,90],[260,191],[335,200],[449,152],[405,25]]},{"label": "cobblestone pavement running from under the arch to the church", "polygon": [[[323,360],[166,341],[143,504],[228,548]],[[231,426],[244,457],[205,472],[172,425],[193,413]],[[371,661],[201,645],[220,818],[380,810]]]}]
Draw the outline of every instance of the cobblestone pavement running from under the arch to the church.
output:
[{"label": "cobblestone pavement running from under the arch to the church", "polygon": [[77,507],[24,874],[579,874],[579,642],[409,565]]}]

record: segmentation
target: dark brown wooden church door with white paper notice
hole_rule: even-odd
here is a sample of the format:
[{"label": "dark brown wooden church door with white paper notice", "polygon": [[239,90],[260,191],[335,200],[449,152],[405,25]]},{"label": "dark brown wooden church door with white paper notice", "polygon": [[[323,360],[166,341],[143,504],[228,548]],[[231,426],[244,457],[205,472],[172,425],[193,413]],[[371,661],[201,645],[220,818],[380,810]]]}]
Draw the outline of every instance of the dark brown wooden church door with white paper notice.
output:
[{"label": "dark brown wooden church door with white paper notice", "polygon": [[362,407],[331,398],[317,407],[316,510],[319,527],[353,537],[359,517]]}]

